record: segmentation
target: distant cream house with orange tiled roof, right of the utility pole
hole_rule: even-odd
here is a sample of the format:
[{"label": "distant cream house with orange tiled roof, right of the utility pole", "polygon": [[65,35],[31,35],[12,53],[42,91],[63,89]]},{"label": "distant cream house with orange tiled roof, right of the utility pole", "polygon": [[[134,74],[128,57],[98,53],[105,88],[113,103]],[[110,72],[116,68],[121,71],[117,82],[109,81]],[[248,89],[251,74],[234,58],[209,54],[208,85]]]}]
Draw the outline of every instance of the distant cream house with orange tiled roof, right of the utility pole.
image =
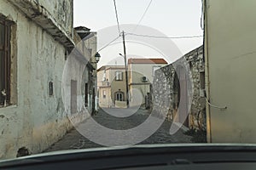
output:
[{"label": "distant cream house with orange tiled roof, right of the utility pole", "polygon": [[130,105],[145,105],[150,95],[154,72],[167,65],[165,59],[128,59]]}]

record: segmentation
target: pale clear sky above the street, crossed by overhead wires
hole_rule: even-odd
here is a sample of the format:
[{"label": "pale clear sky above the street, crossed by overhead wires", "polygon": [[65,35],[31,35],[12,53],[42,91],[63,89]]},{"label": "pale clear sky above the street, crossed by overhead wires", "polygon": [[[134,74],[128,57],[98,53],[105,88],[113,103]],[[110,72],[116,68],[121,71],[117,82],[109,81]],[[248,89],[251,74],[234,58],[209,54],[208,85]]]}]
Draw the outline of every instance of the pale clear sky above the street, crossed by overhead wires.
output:
[{"label": "pale clear sky above the street, crossed by overhead wires", "polygon": [[[148,28],[140,29],[141,27],[138,26],[137,29],[134,29],[142,18],[149,2],[150,0],[116,0],[119,24],[121,25],[120,30],[149,36],[187,37],[203,35],[201,29],[201,0],[153,0],[140,23],[140,25],[148,26]],[[119,35],[113,0],[74,0],[74,26],[86,26],[91,31],[97,31],[99,50]],[[108,29],[110,26],[113,27]],[[111,33],[108,33],[109,30],[111,30]],[[149,48],[143,43],[129,42],[129,38],[135,37],[127,37],[126,54],[128,58],[169,57],[169,59],[166,59],[168,62],[178,59],[203,43],[202,37],[184,39],[144,37],[144,39],[135,40],[147,43],[150,46]],[[173,49],[174,46],[170,48],[169,52],[166,52],[164,48],[158,48],[167,46],[168,41],[173,42],[181,53],[170,52],[176,51],[176,49]],[[119,53],[123,54],[122,39],[119,38],[117,42],[119,43],[100,51],[102,59],[99,66],[123,65],[123,59],[119,56]],[[155,43],[158,47],[155,47]],[[156,48],[159,50],[155,50]],[[168,47],[165,48],[167,50]]]}]

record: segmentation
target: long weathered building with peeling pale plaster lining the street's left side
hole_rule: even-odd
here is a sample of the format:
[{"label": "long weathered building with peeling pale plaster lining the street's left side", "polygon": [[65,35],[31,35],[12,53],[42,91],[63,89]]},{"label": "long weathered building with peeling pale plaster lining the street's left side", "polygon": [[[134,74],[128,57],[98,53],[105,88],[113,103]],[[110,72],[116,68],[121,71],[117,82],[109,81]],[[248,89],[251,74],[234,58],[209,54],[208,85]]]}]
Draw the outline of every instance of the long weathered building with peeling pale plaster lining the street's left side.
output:
[{"label": "long weathered building with peeling pale plaster lining the street's left side", "polygon": [[[32,153],[47,149],[73,127],[71,112],[79,122],[86,110],[80,86],[71,97],[65,91],[73,94],[69,86],[75,82],[63,82],[78,37],[73,0],[0,3],[0,159],[5,159],[24,147]],[[76,72],[67,79],[71,74]]]}]

